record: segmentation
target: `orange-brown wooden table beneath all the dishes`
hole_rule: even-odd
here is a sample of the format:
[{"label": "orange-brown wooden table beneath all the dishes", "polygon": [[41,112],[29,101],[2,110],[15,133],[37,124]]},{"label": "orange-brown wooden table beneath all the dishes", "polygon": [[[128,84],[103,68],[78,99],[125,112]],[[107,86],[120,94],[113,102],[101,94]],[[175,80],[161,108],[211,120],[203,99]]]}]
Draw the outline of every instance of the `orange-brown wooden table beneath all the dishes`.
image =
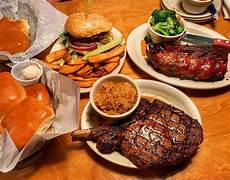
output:
[{"label": "orange-brown wooden table beneath all the dishes", "polygon": [[[67,15],[84,10],[86,1],[75,0],[54,6]],[[146,22],[159,0],[94,0],[90,12],[101,13],[127,38],[138,25]],[[230,22],[222,14],[215,23],[204,23],[230,38]],[[153,79],[136,67],[129,57],[121,71],[133,78]],[[230,178],[230,91],[229,87],[212,91],[180,89],[199,108],[204,142],[184,167],[159,172],[128,169],[97,156],[85,143],[71,142],[70,134],[53,140],[45,154],[27,168],[0,174],[0,179],[229,179]],[[81,97],[81,111],[88,95]]]}]

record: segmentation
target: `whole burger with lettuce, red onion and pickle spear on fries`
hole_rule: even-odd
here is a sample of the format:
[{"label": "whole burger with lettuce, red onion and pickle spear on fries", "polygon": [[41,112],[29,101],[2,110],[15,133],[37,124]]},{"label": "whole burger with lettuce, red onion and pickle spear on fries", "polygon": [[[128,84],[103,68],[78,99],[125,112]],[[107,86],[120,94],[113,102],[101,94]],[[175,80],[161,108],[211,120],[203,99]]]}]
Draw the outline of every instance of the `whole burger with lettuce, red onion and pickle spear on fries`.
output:
[{"label": "whole burger with lettuce, red onion and pickle spear on fries", "polygon": [[72,14],[66,20],[65,30],[61,41],[68,48],[72,59],[81,56],[83,60],[87,60],[87,53],[100,54],[119,45],[123,40],[122,37],[113,39],[112,23],[99,14]]}]

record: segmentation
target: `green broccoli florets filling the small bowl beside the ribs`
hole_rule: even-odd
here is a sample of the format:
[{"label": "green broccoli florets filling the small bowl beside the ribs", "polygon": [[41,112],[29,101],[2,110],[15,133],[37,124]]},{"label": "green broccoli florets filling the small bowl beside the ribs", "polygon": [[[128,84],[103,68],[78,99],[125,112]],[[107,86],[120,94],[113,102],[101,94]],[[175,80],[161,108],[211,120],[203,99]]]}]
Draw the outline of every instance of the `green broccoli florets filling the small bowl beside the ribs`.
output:
[{"label": "green broccoli florets filling the small bowl beside the ribs", "polygon": [[162,35],[175,36],[184,31],[184,27],[179,23],[175,11],[156,9],[151,16],[151,27]]}]

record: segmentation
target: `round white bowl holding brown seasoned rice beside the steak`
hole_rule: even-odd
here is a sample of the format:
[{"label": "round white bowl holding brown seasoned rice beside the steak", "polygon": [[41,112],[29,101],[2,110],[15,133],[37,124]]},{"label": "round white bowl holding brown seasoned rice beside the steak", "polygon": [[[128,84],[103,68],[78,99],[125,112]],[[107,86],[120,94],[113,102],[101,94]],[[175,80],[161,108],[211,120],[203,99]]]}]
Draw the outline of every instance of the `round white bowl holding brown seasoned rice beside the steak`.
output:
[{"label": "round white bowl holding brown seasoned rice beside the steak", "polygon": [[[123,113],[123,114],[119,114],[119,115],[109,115],[107,113],[102,112],[95,104],[94,102],[94,94],[96,92],[96,90],[101,86],[102,83],[106,82],[106,81],[126,81],[129,82],[130,84],[132,84],[136,90],[137,90],[137,100],[135,102],[135,104],[133,105],[133,107]],[[90,103],[93,107],[93,109],[103,118],[110,120],[111,123],[116,122],[116,120],[120,120],[120,119],[124,119],[126,117],[128,117],[129,115],[131,115],[131,113],[137,108],[139,102],[140,102],[140,98],[141,98],[141,94],[140,94],[140,88],[137,85],[137,83],[130,78],[129,76],[123,75],[123,74],[109,74],[106,76],[103,76],[102,78],[98,79],[94,85],[92,86],[91,90],[90,90],[90,94],[89,94],[89,98],[90,98]]]}]

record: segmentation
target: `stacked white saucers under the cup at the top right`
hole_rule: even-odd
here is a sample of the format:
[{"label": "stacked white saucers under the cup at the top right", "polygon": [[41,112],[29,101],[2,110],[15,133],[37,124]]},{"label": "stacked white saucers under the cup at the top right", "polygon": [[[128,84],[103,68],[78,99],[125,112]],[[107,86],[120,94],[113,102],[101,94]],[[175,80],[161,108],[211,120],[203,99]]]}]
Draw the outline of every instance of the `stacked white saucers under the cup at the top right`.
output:
[{"label": "stacked white saucers under the cup at the top right", "polygon": [[[217,12],[219,12],[221,9],[221,0],[214,0],[213,4],[216,7]],[[173,1],[172,0],[162,0],[161,6],[163,9],[174,10],[176,11],[177,14],[181,15],[184,19],[188,21],[193,21],[195,23],[212,20],[211,13],[209,13],[208,11],[205,11],[202,14],[187,13],[181,5],[181,0],[173,0]]]}]

